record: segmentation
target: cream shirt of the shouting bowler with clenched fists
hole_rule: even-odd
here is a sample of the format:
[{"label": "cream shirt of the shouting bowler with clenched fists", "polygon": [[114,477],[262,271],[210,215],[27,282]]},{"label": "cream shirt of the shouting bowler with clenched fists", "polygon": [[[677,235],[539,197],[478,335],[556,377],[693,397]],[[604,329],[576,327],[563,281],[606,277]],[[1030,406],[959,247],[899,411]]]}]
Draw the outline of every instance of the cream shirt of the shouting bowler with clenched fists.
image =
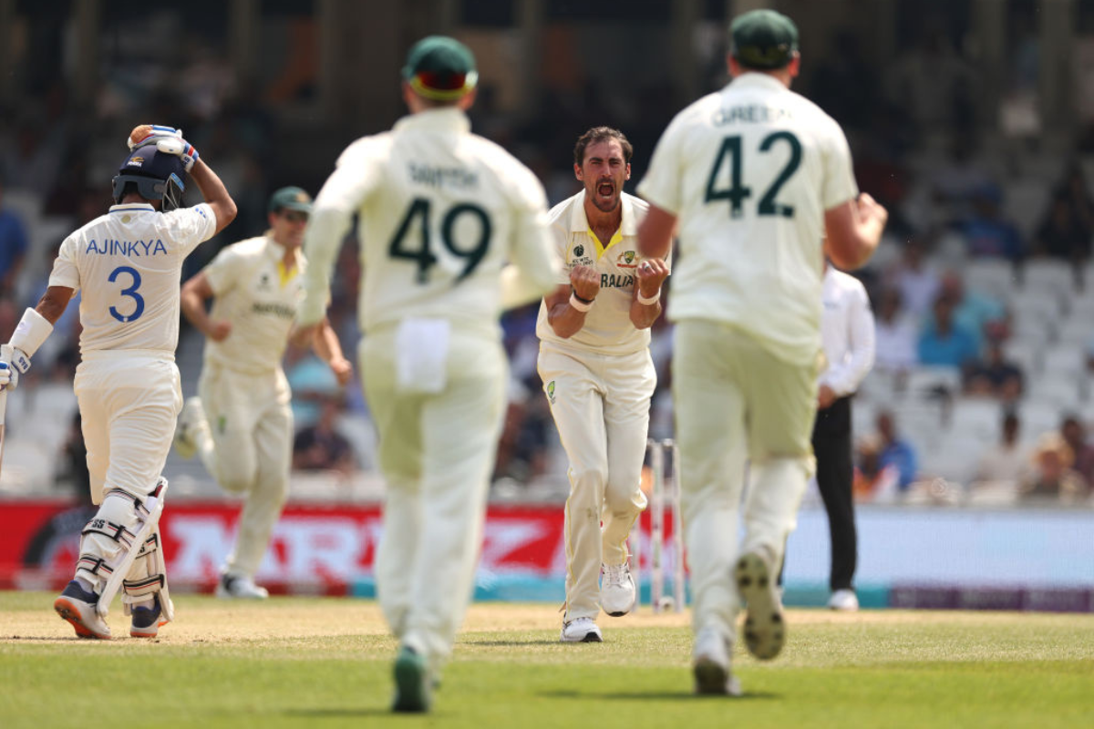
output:
[{"label": "cream shirt of the shouting bowler with clenched fists", "polygon": [[638,225],[649,204],[626,192],[621,196],[622,220],[619,230],[605,247],[589,226],[585,216],[585,190],[555,205],[550,230],[555,250],[562,261],[557,283],[568,283],[574,266],[595,268],[601,274],[601,290],[584,326],[569,339],[555,333],[547,321],[547,304],[539,304],[536,336],[563,350],[598,354],[631,354],[650,345],[650,330],[636,329],[630,320],[637,279],[635,270],[644,258],[638,252]]}]

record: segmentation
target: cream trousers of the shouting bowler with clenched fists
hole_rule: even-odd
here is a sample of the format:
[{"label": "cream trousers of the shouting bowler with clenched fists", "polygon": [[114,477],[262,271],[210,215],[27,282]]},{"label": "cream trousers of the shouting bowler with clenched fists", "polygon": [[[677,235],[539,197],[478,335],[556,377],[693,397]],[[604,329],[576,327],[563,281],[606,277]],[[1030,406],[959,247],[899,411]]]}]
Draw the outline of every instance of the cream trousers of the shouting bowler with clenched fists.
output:
[{"label": "cream trousers of the shouting bowler with clenched fists", "polygon": [[657,376],[645,349],[618,356],[542,344],[538,364],[570,460],[563,620],[595,619],[601,563],[627,561],[627,537],[645,508],[642,462]]}]

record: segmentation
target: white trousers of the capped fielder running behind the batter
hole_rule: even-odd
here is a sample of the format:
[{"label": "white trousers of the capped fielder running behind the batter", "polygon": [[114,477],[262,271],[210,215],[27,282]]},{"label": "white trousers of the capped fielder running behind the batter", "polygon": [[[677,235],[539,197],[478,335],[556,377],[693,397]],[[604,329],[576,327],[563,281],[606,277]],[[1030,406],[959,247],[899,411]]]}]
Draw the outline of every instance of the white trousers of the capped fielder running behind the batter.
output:
[{"label": "white trousers of the capped fielder running behind the batter", "polygon": [[206,363],[198,395],[209,421],[197,428],[201,461],[225,491],[246,497],[224,572],[253,578],[289,497],[289,383],[280,367],[255,374]]}]

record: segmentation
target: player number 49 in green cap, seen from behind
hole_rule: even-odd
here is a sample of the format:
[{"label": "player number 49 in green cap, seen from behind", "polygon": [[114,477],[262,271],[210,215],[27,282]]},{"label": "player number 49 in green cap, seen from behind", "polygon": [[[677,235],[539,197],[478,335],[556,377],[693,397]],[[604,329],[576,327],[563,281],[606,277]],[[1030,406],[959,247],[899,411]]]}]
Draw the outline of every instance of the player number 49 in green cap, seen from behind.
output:
[{"label": "player number 49 in green cap, seen from behind", "polygon": [[335,255],[359,215],[358,353],[387,485],[375,569],[399,639],[396,712],[429,709],[470,599],[505,405],[499,313],[542,297],[559,270],[543,186],[470,133],[477,80],[463,44],[418,42],[403,68],[410,115],[342,152],[304,244],[300,338],[323,319]]}]

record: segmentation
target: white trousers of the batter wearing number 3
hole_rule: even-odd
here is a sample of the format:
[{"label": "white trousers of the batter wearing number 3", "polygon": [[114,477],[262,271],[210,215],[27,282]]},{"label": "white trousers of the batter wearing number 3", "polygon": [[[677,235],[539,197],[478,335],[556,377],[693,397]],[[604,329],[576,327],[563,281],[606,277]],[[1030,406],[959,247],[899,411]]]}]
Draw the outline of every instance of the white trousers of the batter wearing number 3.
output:
[{"label": "white trousers of the batter wearing number 3", "polygon": [[[92,522],[135,532],[133,503],[119,496],[104,499],[104,493],[120,489],[143,501],[155,487],[183,407],[178,367],[162,352],[88,352],[77,367],[73,390],[88,447],[91,501],[100,507]],[[102,590],[106,575],[89,565],[100,560],[114,563],[123,549],[101,533],[86,534],[77,575],[91,581],[95,591]],[[147,574],[144,561],[138,560],[127,577]]]}]

